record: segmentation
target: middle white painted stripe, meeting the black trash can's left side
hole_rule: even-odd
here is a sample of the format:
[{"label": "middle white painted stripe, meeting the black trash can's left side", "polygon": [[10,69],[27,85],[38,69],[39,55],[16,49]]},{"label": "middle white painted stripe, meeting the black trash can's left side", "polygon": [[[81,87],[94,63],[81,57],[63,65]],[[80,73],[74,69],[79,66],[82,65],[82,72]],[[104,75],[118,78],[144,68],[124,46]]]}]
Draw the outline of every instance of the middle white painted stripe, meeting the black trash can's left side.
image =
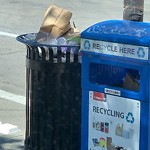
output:
[{"label": "middle white painted stripe, meeting the black trash can's left side", "polygon": [[3,90],[0,90],[0,98],[4,98],[22,105],[26,105],[26,98],[24,96],[16,95]]}]

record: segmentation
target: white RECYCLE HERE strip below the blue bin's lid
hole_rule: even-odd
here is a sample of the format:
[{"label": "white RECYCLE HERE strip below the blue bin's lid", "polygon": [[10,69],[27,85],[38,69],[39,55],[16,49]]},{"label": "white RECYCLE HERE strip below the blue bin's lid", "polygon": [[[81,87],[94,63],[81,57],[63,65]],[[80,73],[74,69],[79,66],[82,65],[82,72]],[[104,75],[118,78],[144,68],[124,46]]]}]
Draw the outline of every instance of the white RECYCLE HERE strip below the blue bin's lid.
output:
[{"label": "white RECYCLE HERE strip below the blue bin's lid", "polygon": [[148,60],[149,56],[149,47],[83,38],[81,39],[81,50],[140,60]]}]

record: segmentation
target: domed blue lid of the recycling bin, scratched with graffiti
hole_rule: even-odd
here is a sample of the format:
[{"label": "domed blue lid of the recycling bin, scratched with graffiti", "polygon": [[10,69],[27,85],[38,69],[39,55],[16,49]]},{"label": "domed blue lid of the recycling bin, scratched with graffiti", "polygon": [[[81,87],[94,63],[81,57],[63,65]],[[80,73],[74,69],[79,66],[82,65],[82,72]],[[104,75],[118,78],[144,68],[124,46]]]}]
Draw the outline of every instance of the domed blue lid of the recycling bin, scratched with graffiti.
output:
[{"label": "domed blue lid of the recycling bin, scratched with graffiti", "polygon": [[81,39],[149,46],[150,23],[107,20],[96,23],[81,33]]}]

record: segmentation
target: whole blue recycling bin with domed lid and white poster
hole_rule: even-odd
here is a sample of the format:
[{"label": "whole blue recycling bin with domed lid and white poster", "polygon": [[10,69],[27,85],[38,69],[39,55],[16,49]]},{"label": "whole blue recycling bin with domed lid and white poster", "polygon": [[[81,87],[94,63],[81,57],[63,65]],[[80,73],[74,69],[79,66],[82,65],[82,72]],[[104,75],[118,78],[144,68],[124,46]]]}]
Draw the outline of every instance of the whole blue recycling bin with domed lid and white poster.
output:
[{"label": "whole blue recycling bin with domed lid and white poster", "polygon": [[108,20],[81,33],[81,150],[150,149],[150,23]]}]

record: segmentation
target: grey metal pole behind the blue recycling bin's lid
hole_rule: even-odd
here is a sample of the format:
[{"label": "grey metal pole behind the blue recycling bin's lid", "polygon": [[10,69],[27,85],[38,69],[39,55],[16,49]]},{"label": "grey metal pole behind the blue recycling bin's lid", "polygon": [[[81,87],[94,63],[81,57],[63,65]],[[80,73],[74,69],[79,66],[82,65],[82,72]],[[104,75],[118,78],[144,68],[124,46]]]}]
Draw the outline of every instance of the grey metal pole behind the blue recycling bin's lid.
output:
[{"label": "grey metal pole behind the blue recycling bin's lid", "polygon": [[143,21],[144,0],[124,0],[123,19]]}]

